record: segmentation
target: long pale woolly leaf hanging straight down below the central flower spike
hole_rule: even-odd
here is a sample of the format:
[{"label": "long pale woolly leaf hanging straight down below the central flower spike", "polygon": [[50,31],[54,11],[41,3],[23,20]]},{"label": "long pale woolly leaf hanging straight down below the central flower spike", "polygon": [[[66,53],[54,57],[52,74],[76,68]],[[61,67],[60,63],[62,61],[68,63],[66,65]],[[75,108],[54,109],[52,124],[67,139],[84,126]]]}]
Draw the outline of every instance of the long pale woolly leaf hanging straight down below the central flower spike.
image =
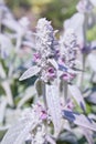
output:
[{"label": "long pale woolly leaf hanging straight down below the central flower spike", "polygon": [[54,125],[54,136],[57,136],[62,130],[62,110],[56,84],[46,85],[46,103]]}]

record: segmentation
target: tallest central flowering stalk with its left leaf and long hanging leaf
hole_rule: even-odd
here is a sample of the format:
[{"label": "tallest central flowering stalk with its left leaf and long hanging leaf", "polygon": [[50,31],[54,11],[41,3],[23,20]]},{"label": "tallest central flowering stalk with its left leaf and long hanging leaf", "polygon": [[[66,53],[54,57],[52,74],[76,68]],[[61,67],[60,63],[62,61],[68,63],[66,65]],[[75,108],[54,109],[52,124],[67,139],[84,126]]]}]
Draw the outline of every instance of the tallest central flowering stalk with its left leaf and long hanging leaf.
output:
[{"label": "tallest central flowering stalk with its left leaf and long hanging leaf", "polygon": [[[34,54],[34,63],[36,64],[36,69],[34,70],[34,74],[39,74],[39,78],[43,81],[42,89],[43,89],[45,107],[51,113],[54,130],[57,135],[61,127],[60,126],[61,112],[58,112],[61,110],[60,110],[60,97],[54,95],[55,92],[53,90],[53,88],[56,89],[54,82],[56,80],[58,68],[55,61],[58,44],[54,35],[55,32],[53,31],[51,22],[44,18],[40,19],[38,21],[35,33],[36,52]],[[30,70],[26,70],[26,72],[20,78],[20,80],[30,78],[29,75],[31,75],[32,73]]]}]

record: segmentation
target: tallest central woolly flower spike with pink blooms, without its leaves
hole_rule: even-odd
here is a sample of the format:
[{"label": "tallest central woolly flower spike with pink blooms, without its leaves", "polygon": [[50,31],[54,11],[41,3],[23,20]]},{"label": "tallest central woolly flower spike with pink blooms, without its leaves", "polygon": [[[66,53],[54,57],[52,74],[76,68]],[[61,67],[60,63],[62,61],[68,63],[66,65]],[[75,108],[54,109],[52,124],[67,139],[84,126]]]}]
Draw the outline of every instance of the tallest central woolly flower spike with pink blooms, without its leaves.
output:
[{"label": "tallest central woolly flower spike with pink blooms, without its leaves", "polygon": [[44,82],[53,81],[56,78],[56,70],[49,60],[56,55],[57,41],[51,22],[45,18],[38,21],[34,62],[41,68],[41,79]]}]

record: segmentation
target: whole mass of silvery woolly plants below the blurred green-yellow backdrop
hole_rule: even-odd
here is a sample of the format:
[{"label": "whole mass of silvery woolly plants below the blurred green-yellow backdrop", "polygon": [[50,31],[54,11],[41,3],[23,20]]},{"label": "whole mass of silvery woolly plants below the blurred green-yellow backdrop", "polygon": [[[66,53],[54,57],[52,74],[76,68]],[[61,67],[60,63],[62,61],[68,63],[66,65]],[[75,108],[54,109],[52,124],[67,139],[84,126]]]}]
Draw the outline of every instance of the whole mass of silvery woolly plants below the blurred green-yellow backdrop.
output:
[{"label": "whole mass of silvery woolly plants below the blurred green-yellow backdrop", "polygon": [[46,18],[33,32],[0,2],[1,144],[96,143],[95,7],[79,0],[57,39]]}]

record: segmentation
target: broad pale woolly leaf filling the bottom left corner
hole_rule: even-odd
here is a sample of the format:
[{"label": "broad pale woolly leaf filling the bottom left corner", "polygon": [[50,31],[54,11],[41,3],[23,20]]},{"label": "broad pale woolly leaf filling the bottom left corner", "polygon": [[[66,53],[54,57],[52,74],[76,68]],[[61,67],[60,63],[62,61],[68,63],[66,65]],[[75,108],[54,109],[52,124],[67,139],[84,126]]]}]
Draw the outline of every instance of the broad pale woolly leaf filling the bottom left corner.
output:
[{"label": "broad pale woolly leaf filling the bottom left corner", "polygon": [[32,122],[22,120],[11,126],[4,135],[1,144],[22,144],[32,128]]}]

